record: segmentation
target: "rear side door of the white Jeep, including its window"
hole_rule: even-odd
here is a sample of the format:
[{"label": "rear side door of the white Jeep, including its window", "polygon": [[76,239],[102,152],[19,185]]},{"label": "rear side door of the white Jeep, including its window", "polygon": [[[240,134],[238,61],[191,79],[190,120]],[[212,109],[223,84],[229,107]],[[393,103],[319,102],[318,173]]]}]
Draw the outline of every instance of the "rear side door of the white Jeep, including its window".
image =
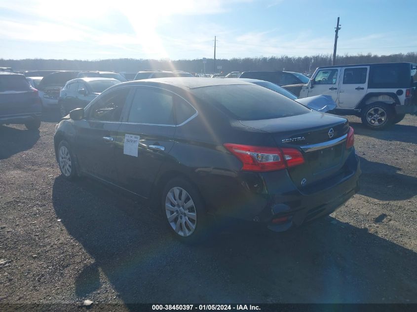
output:
[{"label": "rear side door of the white Jeep, including its window", "polygon": [[355,108],[368,91],[369,66],[342,68],[339,106]]}]

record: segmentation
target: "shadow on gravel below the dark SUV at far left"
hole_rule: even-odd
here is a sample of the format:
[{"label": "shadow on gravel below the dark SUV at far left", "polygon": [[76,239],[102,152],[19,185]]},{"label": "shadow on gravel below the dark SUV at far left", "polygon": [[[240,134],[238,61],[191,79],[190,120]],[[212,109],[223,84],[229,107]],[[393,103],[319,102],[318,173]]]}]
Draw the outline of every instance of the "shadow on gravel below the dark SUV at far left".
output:
[{"label": "shadow on gravel below the dark SUV at far left", "polygon": [[30,149],[40,138],[39,131],[0,126],[0,159]]}]

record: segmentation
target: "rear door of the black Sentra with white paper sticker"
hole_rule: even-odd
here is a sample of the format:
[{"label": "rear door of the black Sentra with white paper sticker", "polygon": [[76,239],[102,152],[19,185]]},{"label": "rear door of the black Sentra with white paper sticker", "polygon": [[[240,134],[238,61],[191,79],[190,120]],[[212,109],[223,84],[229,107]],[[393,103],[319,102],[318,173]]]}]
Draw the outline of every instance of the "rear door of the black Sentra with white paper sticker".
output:
[{"label": "rear door of the black Sentra with white paper sticker", "polygon": [[116,164],[120,186],[149,198],[152,184],[174,145],[174,102],[178,96],[156,87],[136,87],[118,130]]}]

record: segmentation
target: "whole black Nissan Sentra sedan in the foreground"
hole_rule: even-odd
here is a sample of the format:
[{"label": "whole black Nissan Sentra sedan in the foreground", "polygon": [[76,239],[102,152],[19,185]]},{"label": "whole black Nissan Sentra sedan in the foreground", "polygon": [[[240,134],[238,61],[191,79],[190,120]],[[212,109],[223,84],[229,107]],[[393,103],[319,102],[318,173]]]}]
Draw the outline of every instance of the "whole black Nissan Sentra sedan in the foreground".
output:
[{"label": "whole black Nissan Sentra sedan in the foreground", "polygon": [[62,175],[151,200],[184,241],[205,235],[208,214],[285,231],[358,190],[345,118],[240,79],[121,83],[69,118],[54,136]]}]

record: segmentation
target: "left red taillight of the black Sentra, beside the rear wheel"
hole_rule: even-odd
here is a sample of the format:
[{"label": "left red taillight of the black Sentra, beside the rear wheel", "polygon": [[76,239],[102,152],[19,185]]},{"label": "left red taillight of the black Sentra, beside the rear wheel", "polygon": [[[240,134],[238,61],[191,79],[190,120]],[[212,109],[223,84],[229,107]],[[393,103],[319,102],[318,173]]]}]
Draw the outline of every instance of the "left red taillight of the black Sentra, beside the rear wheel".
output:
[{"label": "left red taillight of the black Sentra, beside the rear wheel", "polygon": [[224,146],[243,164],[242,170],[265,172],[294,167],[304,163],[295,148],[278,148],[225,143]]}]

